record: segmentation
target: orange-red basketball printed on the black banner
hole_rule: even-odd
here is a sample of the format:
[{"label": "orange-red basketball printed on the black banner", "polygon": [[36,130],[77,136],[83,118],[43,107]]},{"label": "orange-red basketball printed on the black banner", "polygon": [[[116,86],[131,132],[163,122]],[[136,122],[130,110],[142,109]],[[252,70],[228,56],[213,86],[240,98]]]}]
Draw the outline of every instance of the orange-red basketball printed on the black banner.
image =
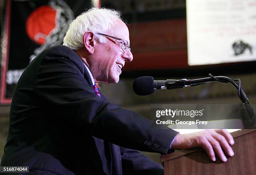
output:
[{"label": "orange-red basketball printed on the black banner", "polygon": [[55,28],[56,10],[43,5],[34,10],[27,18],[26,32],[28,37],[37,44],[43,44],[46,37]]}]

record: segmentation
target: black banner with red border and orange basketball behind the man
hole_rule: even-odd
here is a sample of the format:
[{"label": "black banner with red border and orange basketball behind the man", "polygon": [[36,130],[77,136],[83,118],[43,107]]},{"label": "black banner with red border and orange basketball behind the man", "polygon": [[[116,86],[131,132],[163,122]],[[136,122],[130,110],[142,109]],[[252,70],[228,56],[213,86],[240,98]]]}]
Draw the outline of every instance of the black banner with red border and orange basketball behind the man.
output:
[{"label": "black banner with red border and orange basketball behind the man", "polygon": [[10,104],[28,64],[50,46],[62,44],[72,20],[91,0],[6,0],[1,31],[0,103]]}]

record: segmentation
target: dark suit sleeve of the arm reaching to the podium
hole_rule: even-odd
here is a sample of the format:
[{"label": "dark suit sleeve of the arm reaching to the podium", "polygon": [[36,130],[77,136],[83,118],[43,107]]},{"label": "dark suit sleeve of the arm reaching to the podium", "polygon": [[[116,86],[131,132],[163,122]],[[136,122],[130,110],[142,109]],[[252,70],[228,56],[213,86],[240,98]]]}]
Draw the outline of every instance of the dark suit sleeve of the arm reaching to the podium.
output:
[{"label": "dark suit sleeve of the arm reaching to the podium", "polygon": [[155,129],[145,117],[122,109],[94,93],[82,73],[82,61],[50,51],[38,68],[34,91],[55,117],[84,133],[135,150],[167,154],[177,132]]}]

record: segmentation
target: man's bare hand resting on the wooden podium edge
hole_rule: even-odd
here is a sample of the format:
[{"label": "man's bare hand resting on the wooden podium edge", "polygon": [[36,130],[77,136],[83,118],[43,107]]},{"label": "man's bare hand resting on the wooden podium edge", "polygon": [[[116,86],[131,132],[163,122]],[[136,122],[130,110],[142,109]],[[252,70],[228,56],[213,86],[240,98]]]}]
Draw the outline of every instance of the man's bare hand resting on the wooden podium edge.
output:
[{"label": "man's bare hand resting on the wooden podium edge", "polygon": [[[188,149],[192,147],[203,147],[212,161],[215,161],[215,152],[220,160],[227,161],[223,150],[229,156],[233,156],[234,152],[230,145],[234,144],[232,135],[225,129],[203,130],[190,134],[177,134],[172,149]],[[223,148],[223,150],[222,150]]]}]

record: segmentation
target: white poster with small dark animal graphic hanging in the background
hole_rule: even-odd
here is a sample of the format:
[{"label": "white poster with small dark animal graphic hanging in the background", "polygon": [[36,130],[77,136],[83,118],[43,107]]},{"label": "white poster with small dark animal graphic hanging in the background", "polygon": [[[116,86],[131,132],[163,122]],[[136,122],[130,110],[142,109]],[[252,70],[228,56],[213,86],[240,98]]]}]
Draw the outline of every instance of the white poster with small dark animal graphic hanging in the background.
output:
[{"label": "white poster with small dark animal graphic hanging in the background", "polygon": [[187,0],[189,66],[256,61],[256,0]]}]

